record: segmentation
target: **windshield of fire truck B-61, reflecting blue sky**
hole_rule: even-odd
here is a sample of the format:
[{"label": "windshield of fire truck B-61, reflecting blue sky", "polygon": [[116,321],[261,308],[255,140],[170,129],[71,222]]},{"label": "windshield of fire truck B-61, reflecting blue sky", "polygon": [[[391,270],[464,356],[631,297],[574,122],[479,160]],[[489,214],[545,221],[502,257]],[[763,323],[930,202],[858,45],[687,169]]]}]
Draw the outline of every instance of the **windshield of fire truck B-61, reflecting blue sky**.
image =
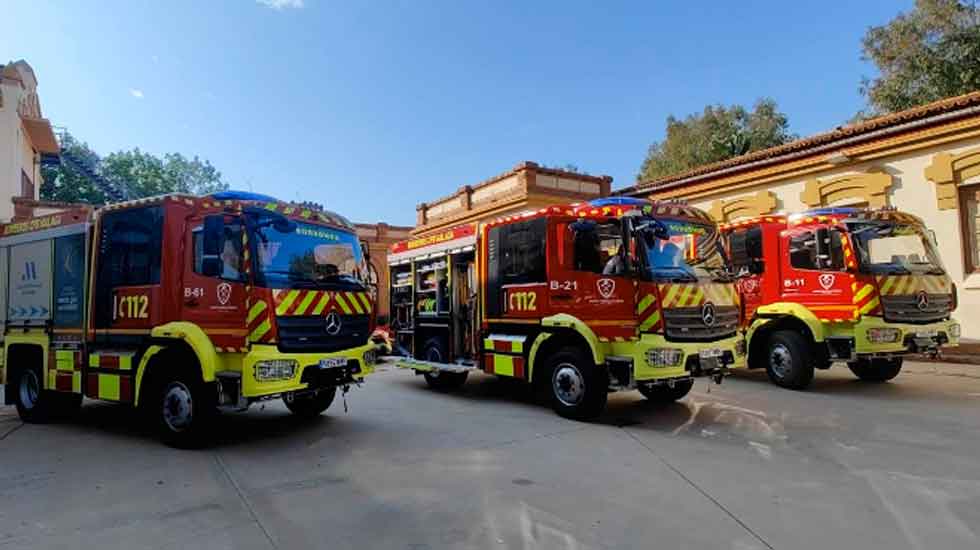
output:
[{"label": "windshield of fire truck B-61, reflecting blue sky", "polygon": [[361,290],[357,235],[308,223],[259,226],[256,282],[267,288]]}]

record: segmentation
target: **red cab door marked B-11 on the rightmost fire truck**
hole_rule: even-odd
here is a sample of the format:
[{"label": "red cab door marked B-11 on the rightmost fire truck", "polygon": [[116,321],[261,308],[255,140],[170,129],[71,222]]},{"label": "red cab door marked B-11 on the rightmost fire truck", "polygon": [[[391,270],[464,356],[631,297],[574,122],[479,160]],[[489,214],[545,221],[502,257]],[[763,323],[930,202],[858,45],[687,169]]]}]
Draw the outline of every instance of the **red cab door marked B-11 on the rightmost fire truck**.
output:
[{"label": "red cab door marked B-11 on the rightmost fire truck", "polygon": [[844,264],[841,234],[827,227],[788,229],[780,238],[781,294],[810,308],[820,318],[853,314],[853,277]]}]

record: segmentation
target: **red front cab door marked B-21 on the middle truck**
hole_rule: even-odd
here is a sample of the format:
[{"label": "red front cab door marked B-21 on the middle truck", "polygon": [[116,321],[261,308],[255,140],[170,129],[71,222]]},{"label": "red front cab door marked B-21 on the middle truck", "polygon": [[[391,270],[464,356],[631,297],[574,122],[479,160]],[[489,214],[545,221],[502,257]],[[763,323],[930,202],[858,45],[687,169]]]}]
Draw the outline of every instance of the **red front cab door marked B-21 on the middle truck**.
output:
[{"label": "red front cab door marked B-21 on the middle truck", "polygon": [[619,220],[556,224],[554,237],[561,251],[549,273],[551,311],[574,315],[597,334],[632,336],[636,280]]}]

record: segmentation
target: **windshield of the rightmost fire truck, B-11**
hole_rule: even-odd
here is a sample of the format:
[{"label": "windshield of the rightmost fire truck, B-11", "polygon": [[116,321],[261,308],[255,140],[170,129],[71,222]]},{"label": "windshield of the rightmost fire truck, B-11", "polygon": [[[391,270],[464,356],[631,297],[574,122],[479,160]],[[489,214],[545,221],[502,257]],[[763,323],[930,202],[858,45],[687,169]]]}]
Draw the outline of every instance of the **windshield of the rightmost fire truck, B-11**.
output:
[{"label": "windshield of the rightmost fire truck, B-11", "polygon": [[854,222],[847,225],[864,272],[945,273],[932,239],[919,225],[887,222]]}]

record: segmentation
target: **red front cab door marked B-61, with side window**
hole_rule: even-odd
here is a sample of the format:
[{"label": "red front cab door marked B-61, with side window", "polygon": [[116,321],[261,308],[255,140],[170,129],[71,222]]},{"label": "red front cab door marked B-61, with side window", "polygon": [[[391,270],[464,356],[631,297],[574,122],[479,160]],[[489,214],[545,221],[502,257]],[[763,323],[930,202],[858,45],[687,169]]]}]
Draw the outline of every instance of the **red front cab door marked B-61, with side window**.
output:
[{"label": "red front cab door marked B-61, with side window", "polygon": [[213,276],[204,269],[204,218],[190,220],[184,235],[183,290],[181,316],[200,326],[218,348],[245,347],[246,269],[241,220],[222,218],[218,245],[221,267]]}]

